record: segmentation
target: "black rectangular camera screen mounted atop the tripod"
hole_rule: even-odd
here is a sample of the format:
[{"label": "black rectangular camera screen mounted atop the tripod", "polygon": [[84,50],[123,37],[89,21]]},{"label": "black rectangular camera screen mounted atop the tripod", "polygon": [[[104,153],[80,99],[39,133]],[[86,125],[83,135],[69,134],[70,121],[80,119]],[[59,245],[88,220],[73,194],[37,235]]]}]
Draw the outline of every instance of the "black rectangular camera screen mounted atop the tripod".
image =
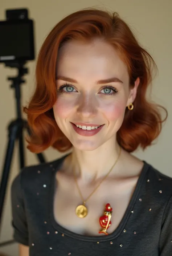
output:
[{"label": "black rectangular camera screen mounted atop the tripod", "polygon": [[0,22],[0,61],[33,60],[33,23],[25,21]]}]

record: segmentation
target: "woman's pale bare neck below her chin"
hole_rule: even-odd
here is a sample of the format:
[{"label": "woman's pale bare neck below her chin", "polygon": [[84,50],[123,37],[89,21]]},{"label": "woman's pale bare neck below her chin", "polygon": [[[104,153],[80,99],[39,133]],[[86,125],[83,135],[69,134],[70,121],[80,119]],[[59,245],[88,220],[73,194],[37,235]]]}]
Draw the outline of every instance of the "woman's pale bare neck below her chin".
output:
[{"label": "woman's pale bare neck below her chin", "polygon": [[[82,182],[95,182],[110,171],[119,153],[120,147],[112,139],[92,151],[81,151],[74,148],[70,159],[71,170],[75,171],[77,178],[82,180]],[[117,164],[118,162],[111,172],[117,170]]]}]

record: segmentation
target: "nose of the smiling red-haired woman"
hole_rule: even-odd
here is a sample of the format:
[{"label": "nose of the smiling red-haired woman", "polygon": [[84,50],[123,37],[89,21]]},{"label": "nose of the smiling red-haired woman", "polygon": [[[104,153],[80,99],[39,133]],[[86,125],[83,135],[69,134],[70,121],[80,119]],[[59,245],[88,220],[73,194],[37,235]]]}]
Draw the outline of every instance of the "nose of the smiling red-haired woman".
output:
[{"label": "nose of the smiling red-haired woman", "polygon": [[84,118],[95,117],[98,111],[98,101],[91,95],[83,95],[80,97],[77,107],[77,113]]}]

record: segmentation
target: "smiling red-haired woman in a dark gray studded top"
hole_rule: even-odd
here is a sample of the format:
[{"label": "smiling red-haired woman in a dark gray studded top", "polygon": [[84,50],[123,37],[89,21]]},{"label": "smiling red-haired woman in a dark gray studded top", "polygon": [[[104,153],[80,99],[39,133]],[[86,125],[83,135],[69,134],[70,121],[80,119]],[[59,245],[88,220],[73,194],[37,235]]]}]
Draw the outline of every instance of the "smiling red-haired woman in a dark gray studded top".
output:
[{"label": "smiling red-haired woman in a dark gray studded top", "polygon": [[13,181],[20,255],[171,255],[172,179],[130,154],[161,131],[152,64],[117,13],[84,9],[49,33],[24,109],[28,149],[72,151]]}]

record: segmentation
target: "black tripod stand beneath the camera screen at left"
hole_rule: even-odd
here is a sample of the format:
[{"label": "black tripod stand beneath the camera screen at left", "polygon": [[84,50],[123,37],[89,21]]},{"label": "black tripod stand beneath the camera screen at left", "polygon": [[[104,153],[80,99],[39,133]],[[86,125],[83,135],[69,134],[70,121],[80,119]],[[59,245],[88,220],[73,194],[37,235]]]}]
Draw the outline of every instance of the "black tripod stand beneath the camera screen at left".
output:
[{"label": "black tripod stand beneath the camera screen at left", "polygon": [[[20,85],[25,82],[25,80],[22,79],[22,76],[28,73],[28,69],[24,68],[25,62],[20,62],[20,63],[6,62],[5,65],[11,68],[17,68],[19,70],[19,73],[16,77],[8,77],[8,80],[12,81],[11,88],[15,89],[17,118],[13,120],[11,123],[9,123],[9,126],[8,126],[8,145],[7,145],[6,156],[4,160],[3,172],[2,172],[1,183],[0,183],[0,224],[1,224],[1,217],[3,213],[5,191],[8,183],[8,176],[9,176],[9,171],[11,167],[11,161],[13,157],[15,142],[19,141],[19,162],[20,162],[20,170],[21,170],[25,166],[24,146],[23,146],[24,129],[26,129],[30,134],[27,121],[25,121],[21,117],[21,102],[20,102],[20,99],[21,99]],[[41,163],[45,162],[45,159],[42,153],[37,154],[37,157]],[[0,244],[0,246],[9,244],[12,242],[13,241],[5,242],[3,244]]]}]

